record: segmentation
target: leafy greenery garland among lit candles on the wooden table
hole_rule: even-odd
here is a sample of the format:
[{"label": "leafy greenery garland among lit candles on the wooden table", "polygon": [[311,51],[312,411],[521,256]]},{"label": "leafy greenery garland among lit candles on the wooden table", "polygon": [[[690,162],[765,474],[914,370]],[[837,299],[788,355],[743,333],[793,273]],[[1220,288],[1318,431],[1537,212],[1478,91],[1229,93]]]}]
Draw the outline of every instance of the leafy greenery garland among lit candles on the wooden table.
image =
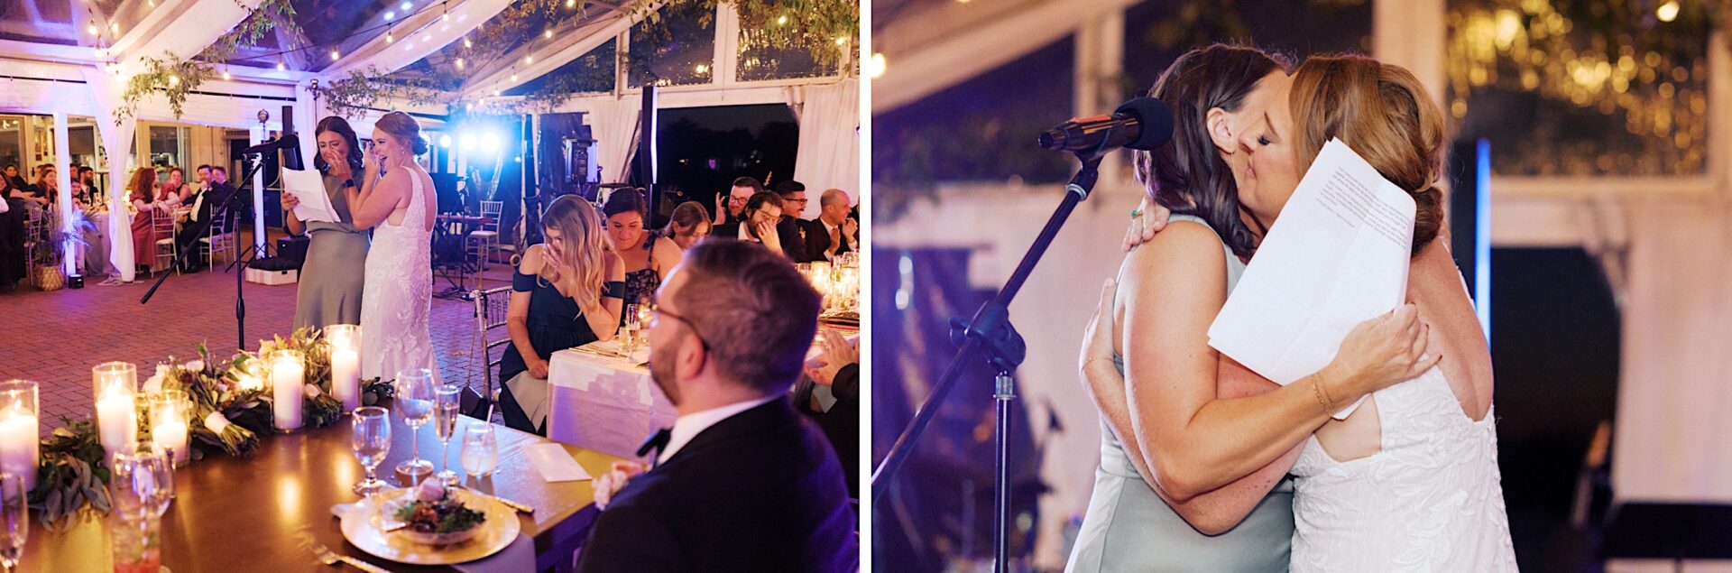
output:
[{"label": "leafy greenery garland among lit candles on the wooden table", "polygon": [[[184,390],[191,409],[187,429],[191,459],[201,460],[213,452],[232,457],[251,457],[262,436],[275,435],[272,426],[272,393],[262,388],[241,388],[244,376],[262,376],[262,355],[277,350],[298,350],[305,369],[305,400],[301,419],[305,428],[326,428],[343,417],[343,405],[331,395],[331,343],[313,329],[296,329],[288,339],[274,338],[260,343],[260,350],[236,353],[227,362],[210,358],[210,350],[199,344],[197,360],[177,362],[170,357],[158,364],[156,374],[144,381],[139,400],[139,443],[151,440],[149,400],[163,390]],[[391,396],[391,386],[378,377],[360,383],[362,402],[376,403]],[[107,452],[90,419],[61,419],[47,440],[42,440],[36,488],[29,492],[29,507],[40,512],[50,530],[64,530],[87,514],[107,514]]]}]

